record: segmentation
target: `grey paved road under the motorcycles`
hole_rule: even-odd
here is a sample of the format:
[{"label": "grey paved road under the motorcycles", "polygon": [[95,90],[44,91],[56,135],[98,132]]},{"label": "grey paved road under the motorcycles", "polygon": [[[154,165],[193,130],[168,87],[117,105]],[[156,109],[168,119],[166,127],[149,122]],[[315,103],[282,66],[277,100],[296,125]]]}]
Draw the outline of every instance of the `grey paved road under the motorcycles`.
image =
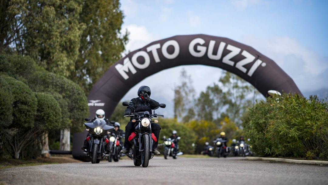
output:
[{"label": "grey paved road under the motorcycles", "polygon": [[8,168],[0,171],[0,184],[328,184],[328,166],[249,161],[242,157],[154,157],[147,168],[130,159],[99,164],[67,163]]}]

